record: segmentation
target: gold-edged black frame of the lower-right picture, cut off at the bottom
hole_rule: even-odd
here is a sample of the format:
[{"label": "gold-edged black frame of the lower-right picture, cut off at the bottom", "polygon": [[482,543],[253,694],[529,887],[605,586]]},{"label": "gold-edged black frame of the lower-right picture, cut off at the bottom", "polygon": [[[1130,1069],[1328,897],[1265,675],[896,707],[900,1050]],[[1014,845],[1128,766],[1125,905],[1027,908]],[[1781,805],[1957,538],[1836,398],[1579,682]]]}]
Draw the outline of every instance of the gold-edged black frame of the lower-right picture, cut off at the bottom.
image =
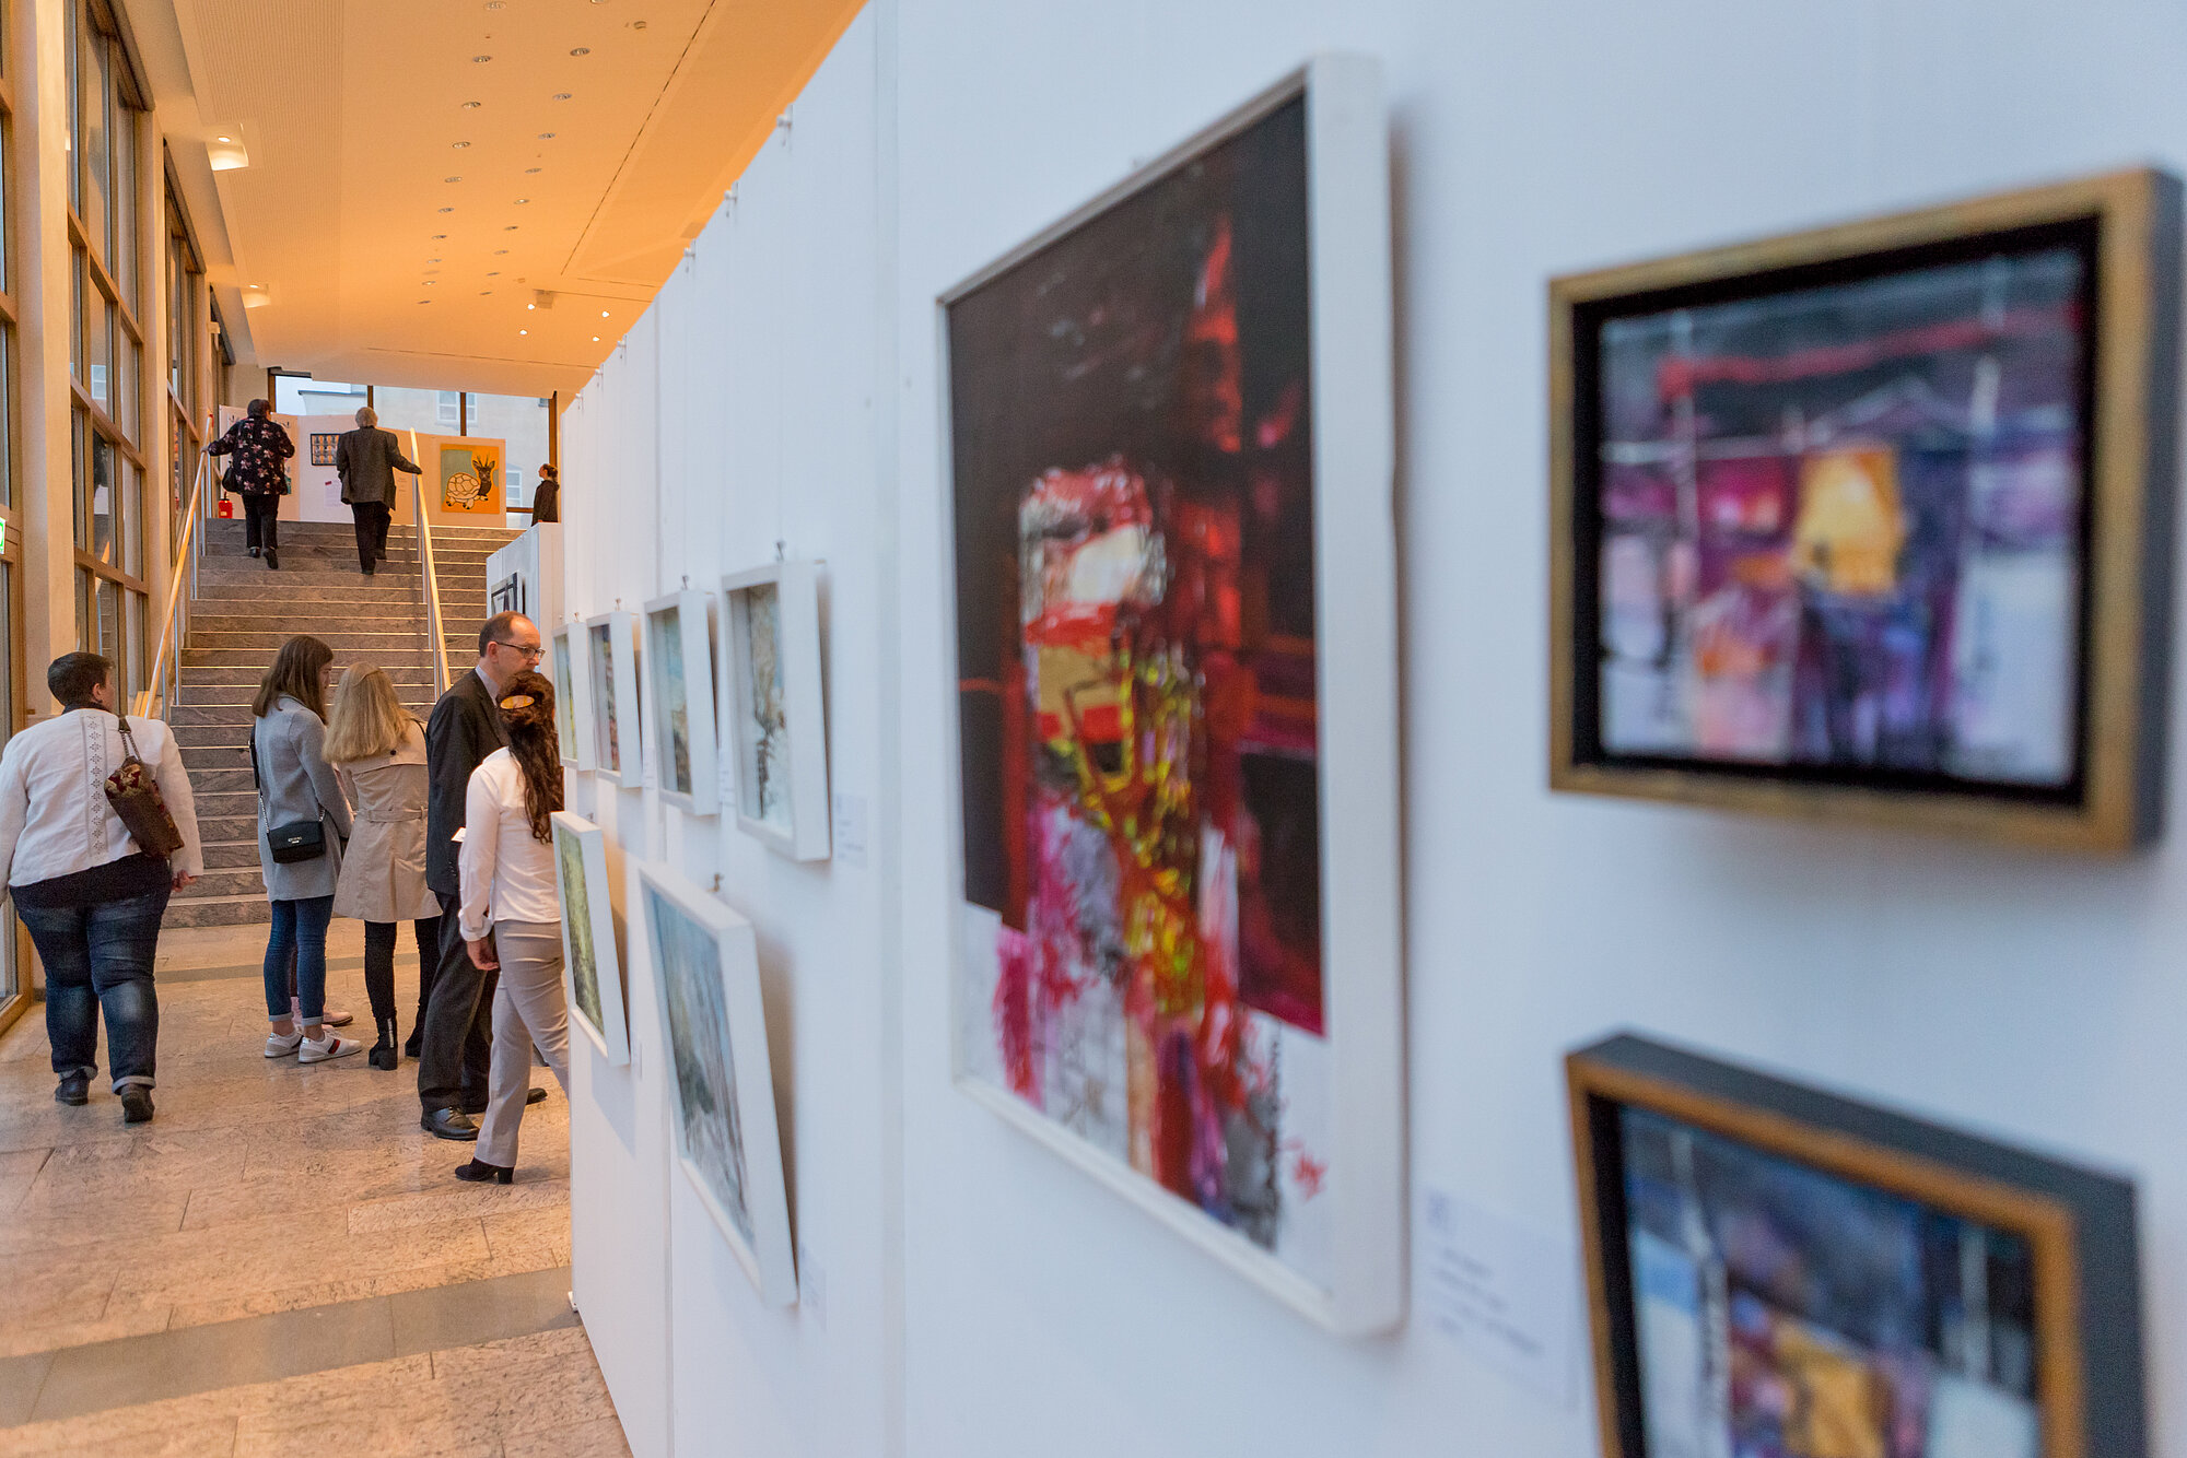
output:
[{"label": "gold-edged black frame of the lower-right picture, cut off at the bottom", "polygon": [[1627,1108],[2023,1237],[2043,1458],[2145,1458],[2135,1187],[1618,1034],[1566,1058],[1605,1458],[1649,1458],[1627,1244]]}]

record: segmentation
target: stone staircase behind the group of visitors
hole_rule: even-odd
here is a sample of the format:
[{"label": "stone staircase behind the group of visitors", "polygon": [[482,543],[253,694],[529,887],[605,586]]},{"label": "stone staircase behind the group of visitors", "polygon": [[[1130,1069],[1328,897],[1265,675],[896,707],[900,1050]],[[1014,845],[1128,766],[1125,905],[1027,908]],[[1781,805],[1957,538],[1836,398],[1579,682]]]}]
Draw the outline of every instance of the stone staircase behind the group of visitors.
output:
[{"label": "stone staircase behind the group of visitors", "polygon": [[[486,557],[516,533],[496,527],[433,527],[433,573],[448,630],[448,675],[479,660],[486,623]],[[182,745],[206,842],[206,874],[166,907],[168,927],[225,927],[271,918],[258,872],[258,791],[252,787],[252,699],[273,651],[295,634],[335,649],[335,667],[387,669],[402,702],[424,719],[433,708],[433,649],[424,616],[424,568],[411,527],[387,533],[376,577],[356,571],[348,522],[282,522],[280,571],[243,546],[241,520],[206,522],[199,597],[182,649],[179,686],[166,721]]]}]

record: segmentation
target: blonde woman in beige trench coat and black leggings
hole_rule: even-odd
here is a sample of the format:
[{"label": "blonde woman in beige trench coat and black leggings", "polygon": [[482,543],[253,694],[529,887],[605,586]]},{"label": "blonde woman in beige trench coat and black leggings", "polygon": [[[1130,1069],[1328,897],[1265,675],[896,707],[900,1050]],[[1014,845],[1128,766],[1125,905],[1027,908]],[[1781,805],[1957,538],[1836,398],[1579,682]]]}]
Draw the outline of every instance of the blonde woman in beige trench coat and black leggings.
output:
[{"label": "blonde woman in beige trench coat and black leggings", "polygon": [[[396,925],[411,922],[418,938],[418,1025],[424,1025],[433,990],[426,977],[440,964],[440,898],[424,885],[424,728],[396,697],[387,673],[365,665],[341,675],[330,713],[326,759],[341,776],[356,826],[341,857],[335,916],[365,922],[365,995],[381,1034],[370,1060],[374,1069],[394,1069],[402,1058],[396,1043]],[[416,1043],[409,1054],[418,1056]]]}]

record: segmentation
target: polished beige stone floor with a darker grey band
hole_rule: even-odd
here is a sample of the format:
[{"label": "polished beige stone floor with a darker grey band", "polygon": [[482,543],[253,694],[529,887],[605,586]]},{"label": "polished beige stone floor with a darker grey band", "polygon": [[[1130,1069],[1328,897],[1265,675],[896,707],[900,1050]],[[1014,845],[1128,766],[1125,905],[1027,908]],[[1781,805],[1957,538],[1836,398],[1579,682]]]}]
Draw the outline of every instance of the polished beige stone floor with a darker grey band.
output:
[{"label": "polished beige stone floor with a darker grey band", "polygon": [[[459,1185],[470,1145],[418,1130],[413,1062],[262,1056],[262,936],[164,933],[147,1126],[103,1078],[52,1102],[37,1008],[0,1038],[0,1454],[625,1451],[562,1298],[553,1080],[516,1183]],[[352,1032],[361,951],[337,925]],[[409,1032],[413,960],[396,981]]]}]

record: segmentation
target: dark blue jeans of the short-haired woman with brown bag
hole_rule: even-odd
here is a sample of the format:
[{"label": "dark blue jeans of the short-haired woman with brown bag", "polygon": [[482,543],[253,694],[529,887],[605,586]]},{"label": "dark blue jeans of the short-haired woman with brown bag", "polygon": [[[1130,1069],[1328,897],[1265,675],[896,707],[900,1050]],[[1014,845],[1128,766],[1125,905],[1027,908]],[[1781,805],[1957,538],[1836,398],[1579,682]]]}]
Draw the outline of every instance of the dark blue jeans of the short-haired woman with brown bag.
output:
[{"label": "dark blue jeans of the short-haired woman with brown bag", "polygon": [[46,964],[46,1036],[59,1075],[98,1071],[98,1012],[107,1014],[114,1091],[153,1086],[160,992],[151,984],[168,887],[94,907],[15,907]]}]

